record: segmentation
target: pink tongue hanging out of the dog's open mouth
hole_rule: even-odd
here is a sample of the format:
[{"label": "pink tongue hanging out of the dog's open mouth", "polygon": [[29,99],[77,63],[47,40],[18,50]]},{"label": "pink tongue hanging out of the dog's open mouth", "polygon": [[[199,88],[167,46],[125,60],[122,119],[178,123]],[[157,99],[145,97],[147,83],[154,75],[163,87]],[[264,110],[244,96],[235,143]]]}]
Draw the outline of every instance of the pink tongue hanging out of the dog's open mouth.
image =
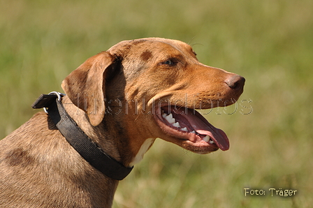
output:
[{"label": "pink tongue hanging out of the dog's open mouth", "polygon": [[224,133],[221,129],[212,126],[212,124],[210,124],[200,113],[195,113],[196,114],[194,114],[191,110],[188,110],[187,114],[182,112],[180,114],[189,121],[189,124],[191,124],[192,128],[194,128],[197,133],[201,135],[209,135],[215,144],[217,144],[219,149],[223,151],[228,150],[229,140],[226,133]]}]

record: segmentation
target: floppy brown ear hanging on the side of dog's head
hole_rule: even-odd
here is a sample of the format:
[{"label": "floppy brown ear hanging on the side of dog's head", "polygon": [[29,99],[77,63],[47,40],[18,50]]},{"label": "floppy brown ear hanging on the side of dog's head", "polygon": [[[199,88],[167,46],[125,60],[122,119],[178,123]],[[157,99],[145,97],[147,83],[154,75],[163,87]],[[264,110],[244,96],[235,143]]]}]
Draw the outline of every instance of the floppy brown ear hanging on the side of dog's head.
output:
[{"label": "floppy brown ear hanging on the side of dog's head", "polygon": [[92,126],[98,126],[105,112],[105,74],[115,57],[101,52],[73,70],[61,87],[70,100],[84,110]]}]

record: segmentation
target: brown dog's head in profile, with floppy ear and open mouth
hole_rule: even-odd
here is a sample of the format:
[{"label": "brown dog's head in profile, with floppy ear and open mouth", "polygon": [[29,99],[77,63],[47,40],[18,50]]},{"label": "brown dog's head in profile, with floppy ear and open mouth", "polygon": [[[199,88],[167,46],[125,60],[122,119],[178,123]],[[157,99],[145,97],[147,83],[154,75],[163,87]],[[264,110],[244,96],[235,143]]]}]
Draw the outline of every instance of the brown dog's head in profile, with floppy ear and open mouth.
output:
[{"label": "brown dog's head in profile, with floppy ear and open mouth", "polygon": [[[118,121],[133,154],[155,138],[206,154],[227,150],[224,131],[195,109],[235,103],[245,78],[201,64],[179,40],[126,40],[85,61],[62,83],[93,126]],[[124,142],[123,142],[124,143]],[[147,149],[146,148],[146,149]]]}]

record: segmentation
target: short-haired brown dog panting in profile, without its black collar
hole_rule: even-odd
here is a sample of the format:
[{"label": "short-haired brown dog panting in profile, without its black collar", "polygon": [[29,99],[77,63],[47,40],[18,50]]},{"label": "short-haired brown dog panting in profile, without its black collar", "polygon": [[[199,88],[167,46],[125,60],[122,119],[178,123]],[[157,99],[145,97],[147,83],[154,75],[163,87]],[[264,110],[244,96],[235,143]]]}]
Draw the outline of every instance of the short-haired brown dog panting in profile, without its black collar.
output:
[{"label": "short-haired brown dog panting in profile, without its black collar", "polygon": [[[61,103],[92,144],[131,167],[156,138],[198,154],[227,150],[226,134],[194,109],[231,105],[244,84],[199,63],[186,43],[145,38],[87,59],[63,81]],[[1,140],[0,207],[111,207],[118,181],[60,131],[38,112]]]}]

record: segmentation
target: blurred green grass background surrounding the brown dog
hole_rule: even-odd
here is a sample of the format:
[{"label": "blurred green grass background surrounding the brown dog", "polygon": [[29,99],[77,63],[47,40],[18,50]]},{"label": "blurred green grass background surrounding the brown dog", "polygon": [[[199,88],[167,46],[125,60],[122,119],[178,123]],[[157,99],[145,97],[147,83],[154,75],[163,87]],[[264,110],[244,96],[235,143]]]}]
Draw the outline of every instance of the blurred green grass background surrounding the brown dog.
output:
[{"label": "blurred green grass background surrounding the brown dog", "polygon": [[121,40],[178,39],[204,64],[247,80],[237,110],[208,114],[231,149],[197,155],[157,140],[113,207],[312,207],[312,8],[311,0],[1,0],[0,138],[88,57]]}]

